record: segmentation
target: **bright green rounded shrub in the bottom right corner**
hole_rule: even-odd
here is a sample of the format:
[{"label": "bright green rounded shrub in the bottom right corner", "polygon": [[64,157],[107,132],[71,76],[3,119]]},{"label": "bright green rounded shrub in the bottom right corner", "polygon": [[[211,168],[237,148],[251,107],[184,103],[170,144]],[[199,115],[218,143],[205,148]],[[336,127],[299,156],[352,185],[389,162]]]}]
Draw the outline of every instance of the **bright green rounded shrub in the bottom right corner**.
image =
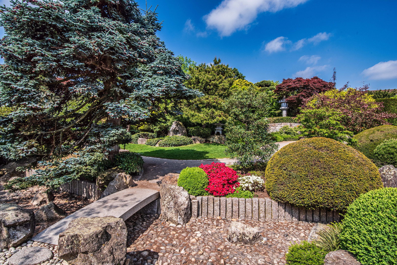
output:
[{"label": "bright green rounded shrub in the bottom right corner", "polygon": [[362,264],[397,264],[397,188],[370,191],[349,205],[341,245]]}]

